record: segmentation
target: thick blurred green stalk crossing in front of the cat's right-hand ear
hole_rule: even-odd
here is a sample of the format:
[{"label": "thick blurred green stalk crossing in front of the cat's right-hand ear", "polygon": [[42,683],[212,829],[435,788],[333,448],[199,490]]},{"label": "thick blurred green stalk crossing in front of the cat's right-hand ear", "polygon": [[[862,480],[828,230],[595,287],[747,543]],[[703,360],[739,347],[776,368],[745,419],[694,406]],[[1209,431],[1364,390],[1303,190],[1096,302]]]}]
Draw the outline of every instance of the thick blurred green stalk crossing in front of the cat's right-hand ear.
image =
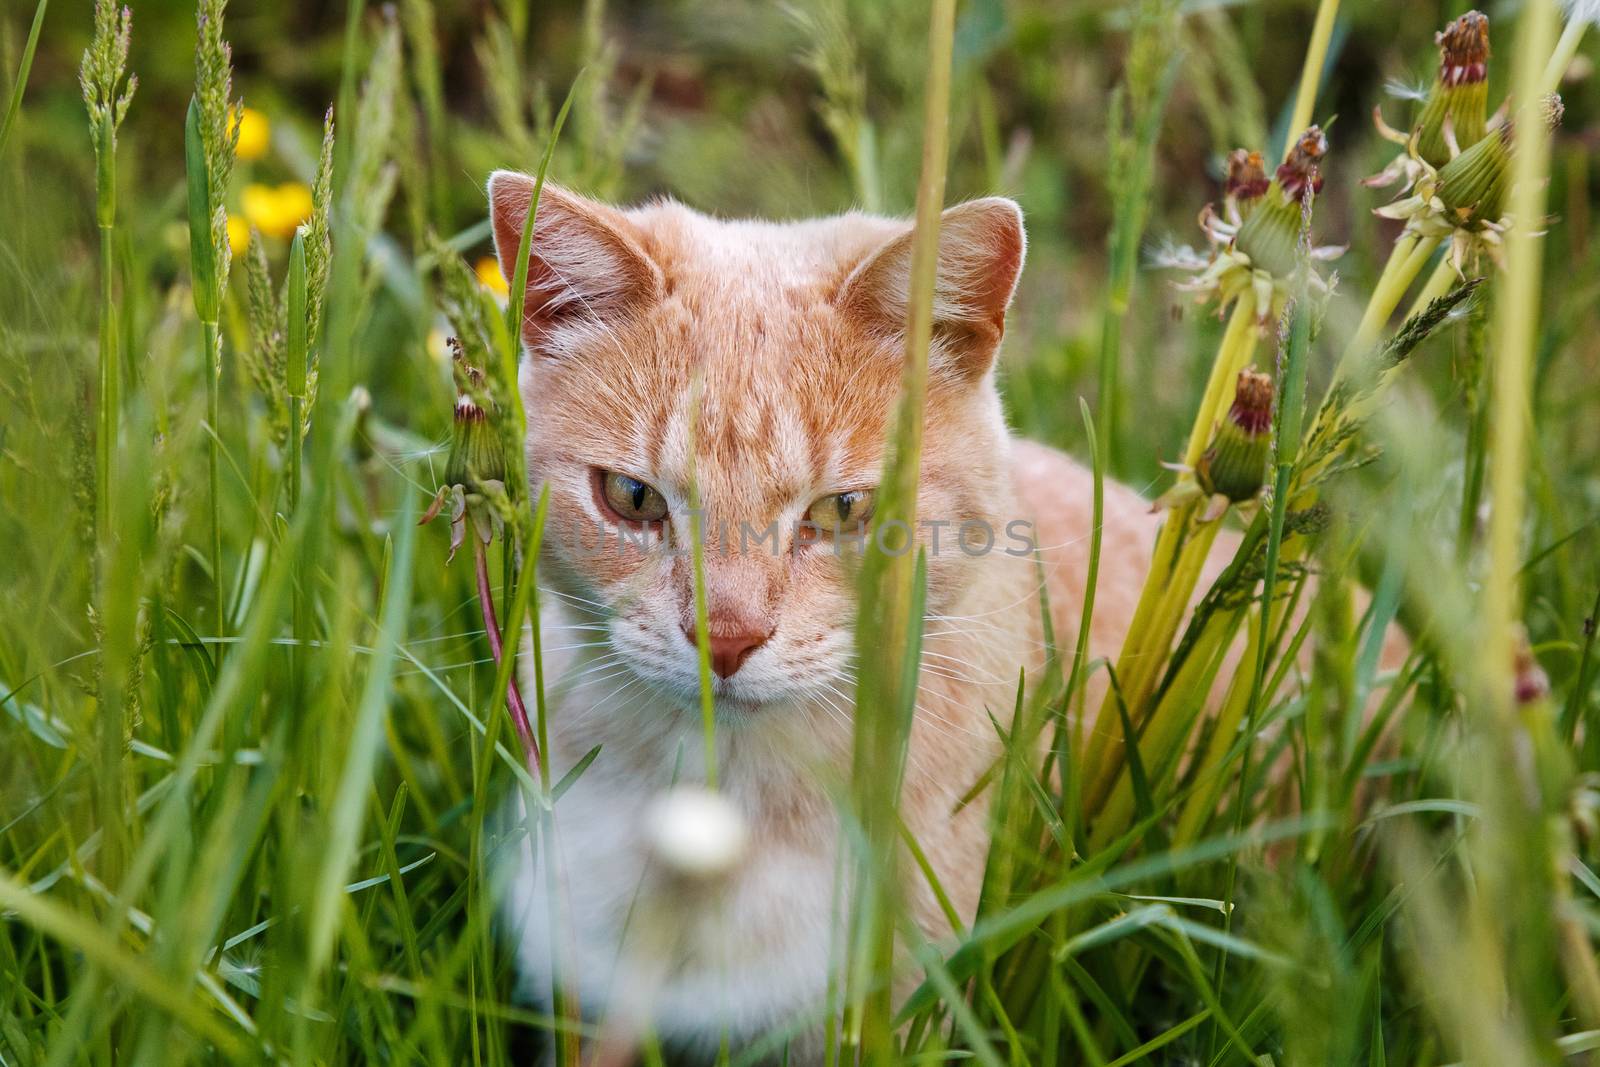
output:
[{"label": "thick blurred green stalk crossing in front of the cat's right-hand ear", "polygon": [[922,176],[910,253],[910,291],[906,325],[906,366],[899,411],[890,438],[878,498],[877,536],[867,539],[861,571],[861,608],[856,643],[861,673],[856,686],[854,803],[866,837],[858,862],[854,944],[850,952],[845,997],[845,1041],[859,1045],[866,1064],[888,1064],[894,1054],[893,993],[899,776],[906,744],[904,712],[917,688],[910,649],[917,638],[912,611],[918,557],[901,545],[886,552],[882,531],[901,523],[910,531],[917,514],[922,461],[923,406],[928,392],[928,346],[933,338],[933,288],[939,261],[939,214],[949,155],[950,64],[955,37],[955,0],[934,0],[928,26]]}]

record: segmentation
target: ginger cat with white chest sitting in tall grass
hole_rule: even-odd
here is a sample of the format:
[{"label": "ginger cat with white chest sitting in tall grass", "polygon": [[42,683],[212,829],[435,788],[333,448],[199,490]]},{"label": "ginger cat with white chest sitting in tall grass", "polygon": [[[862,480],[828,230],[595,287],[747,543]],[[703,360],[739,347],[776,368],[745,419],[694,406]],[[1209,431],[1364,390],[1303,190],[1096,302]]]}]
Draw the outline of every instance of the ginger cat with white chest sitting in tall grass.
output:
[{"label": "ginger cat with white chest sitting in tall grass", "polygon": [[[533,186],[509,171],[488,182],[506,277]],[[539,200],[522,389],[530,480],[550,491],[549,758],[562,774],[600,745],[555,808],[557,950],[586,1014],[648,1000],[662,1040],[691,1053],[794,1025],[790,1062],[816,1057],[816,1011],[837,969],[832,790],[850,768],[854,686],[854,585],[837,539],[869,517],[883,464],[910,230],[861,213],[758,222],[672,202],[622,210],[550,184]],[[926,637],[902,811],[965,915],[978,901],[986,805],[950,811],[998,750],[989,713],[1003,721],[1018,670],[1032,678],[1043,662],[1030,547],[1070,648],[1090,544],[1090,474],[1013,438],[995,392],[1024,245],[1011,200],[942,216],[917,499]],[[640,992],[629,990],[627,958],[651,923],[635,904],[669,891],[648,859],[646,816],[672,782],[706,776],[693,568],[667,550],[690,542],[691,467],[720,789],[749,843],[714,893],[674,897],[669,969]],[[1106,486],[1094,656],[1122,643],[1157,525],[1136,493]],[[741,542],[746,528],[766,539]],[[978,552],[984,530],[995,539]],[[525,974],[549,990],[547,880],[522,854],[507,923]],[[947,933],[925,880],[902,870],[918,921]],[[651,944],[661,939],[658,929]]]}]

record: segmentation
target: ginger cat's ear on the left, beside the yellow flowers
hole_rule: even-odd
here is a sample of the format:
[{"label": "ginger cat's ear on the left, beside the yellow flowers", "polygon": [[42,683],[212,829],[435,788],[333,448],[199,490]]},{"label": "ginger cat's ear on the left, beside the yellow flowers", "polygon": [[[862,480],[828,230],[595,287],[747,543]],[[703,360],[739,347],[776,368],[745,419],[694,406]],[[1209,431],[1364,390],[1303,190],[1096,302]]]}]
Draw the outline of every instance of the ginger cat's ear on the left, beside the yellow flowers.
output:
[{"label": "ginger cat's ear on the left, beside the yellow flowers", "polygon": [[[507,280],[517,277],[517,250],[534,186],[528,174],[490,174],[494,254]],[[626,315],[659,299],[662,288],[661,267],[638,245],[621,211],[544,182],[528,243],[522,314],[522,339],[530,347],[539,347],[562,326],[603,325]]]}]

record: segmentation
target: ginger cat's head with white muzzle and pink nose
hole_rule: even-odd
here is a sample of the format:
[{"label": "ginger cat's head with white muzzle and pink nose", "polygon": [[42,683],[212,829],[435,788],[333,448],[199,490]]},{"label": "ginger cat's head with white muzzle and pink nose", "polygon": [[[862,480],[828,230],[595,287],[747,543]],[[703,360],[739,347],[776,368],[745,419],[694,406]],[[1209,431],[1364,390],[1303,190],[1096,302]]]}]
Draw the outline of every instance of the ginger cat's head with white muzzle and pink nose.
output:
[{"label": "ginger cat's head with white muzzle and pink nose", "polygon": [[[533,187],[490,178],[507,278]],[[870,518],[899,397],[910,253],[899,219],[722,221],[544,186],[522,390],[530,480],[550,493],[546,574],[669,699],[693,705],[699,691],[694,491],[718,705],[845,689],[848,534]],[[930,613],[949,611],[982,557],[1008,544],[992,370],[1022,253],[1010,200],[942,216],[915,525],[930,547]],[[842,520],[843,537],[829,530]]]}]

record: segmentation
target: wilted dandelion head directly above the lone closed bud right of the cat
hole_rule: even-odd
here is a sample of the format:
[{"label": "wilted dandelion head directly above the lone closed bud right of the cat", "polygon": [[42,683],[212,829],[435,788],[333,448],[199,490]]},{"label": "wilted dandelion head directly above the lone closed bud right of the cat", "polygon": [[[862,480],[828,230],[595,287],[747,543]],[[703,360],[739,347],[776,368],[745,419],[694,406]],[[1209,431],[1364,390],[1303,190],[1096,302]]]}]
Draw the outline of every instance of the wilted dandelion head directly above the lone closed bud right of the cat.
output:
[{"label": "wilted dandelion head directly above the lone closed bud right of the cat", "polygon": [[[1240,149],[1230,154],[1224,213],[1218,214],[1211,205],[1200,213],[1200,229],[1211,243],[1211,256],[1202,258],[1182,248],[1162,259],[1162,266],[1194,272],[1178,288],[1197,293],[1202,301],[1216,298],[1218,312],[1248,291],[1254,294],[1258,325],[1264,328],[1275,318],[1299,267],[1304,200],[1322,189],[1326,152],[1328,139],[1322,130],[1307,128],[1264,186],[1258,152]],[[1310,258],[1333,259],[1342,253],[1342,246],[1320,246],[1310,250]],[[1328,288],[1315,272],[1310,274],[1310,286],[1317,293]]]}]

